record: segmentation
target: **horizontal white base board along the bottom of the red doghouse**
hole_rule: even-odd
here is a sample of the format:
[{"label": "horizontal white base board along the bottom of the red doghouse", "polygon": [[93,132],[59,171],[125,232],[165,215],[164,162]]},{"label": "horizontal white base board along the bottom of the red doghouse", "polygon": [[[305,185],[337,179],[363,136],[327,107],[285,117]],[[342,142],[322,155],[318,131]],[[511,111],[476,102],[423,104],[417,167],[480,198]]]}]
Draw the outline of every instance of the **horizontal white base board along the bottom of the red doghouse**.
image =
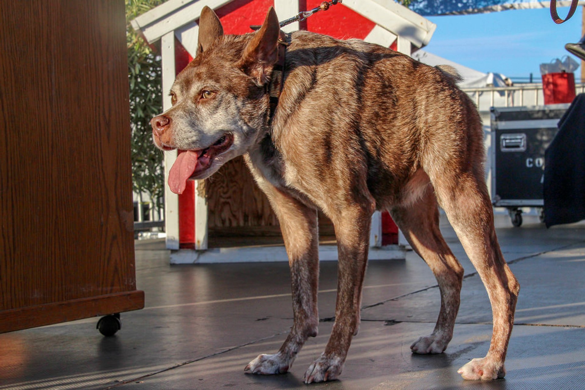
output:
[{"label": "horizontal white base board along the bottom of the red doghouse", "polygon": [[[337,247],[319,246],[320,261],[336,261]],[[406,252],[398,245],[370,248],[368,260],[404,260]],[[271,247],[236,247],[216,248],[205,251],[181,249],[171,251],[171,264],[205,264],[205,263],[266,263],[270,261],[288,261],[284,246]]]}]

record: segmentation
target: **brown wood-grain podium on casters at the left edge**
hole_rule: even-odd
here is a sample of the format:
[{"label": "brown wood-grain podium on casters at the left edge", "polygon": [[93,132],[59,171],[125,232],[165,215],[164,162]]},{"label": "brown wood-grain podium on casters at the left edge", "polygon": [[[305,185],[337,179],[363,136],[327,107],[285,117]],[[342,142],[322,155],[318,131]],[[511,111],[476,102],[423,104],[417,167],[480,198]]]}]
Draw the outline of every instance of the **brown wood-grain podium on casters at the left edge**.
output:
[{"label": "brown wood-grain podium on casters at the left edge", "polygon": [[143,308],[122,0],[0,0],[0,332]]}]

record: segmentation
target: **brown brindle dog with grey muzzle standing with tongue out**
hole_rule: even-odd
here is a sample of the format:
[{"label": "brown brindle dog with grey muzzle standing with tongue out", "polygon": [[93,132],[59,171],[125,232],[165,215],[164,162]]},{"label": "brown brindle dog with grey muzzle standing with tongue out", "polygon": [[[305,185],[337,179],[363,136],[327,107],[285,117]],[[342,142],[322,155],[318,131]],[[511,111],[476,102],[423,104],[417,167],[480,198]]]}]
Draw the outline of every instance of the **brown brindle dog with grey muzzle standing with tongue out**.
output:
[{"label": "brown brindle dog with grey muzzle standing with tongue out", "polygon": [[[284,82],[272,112],[269,87],[279,51],[285,51]],[[173,106],[151,125],[157,147],[184,150],[168,177],[174,192],[243,156],[280,222],[294,323],[280,350],[254,358],[246,372],[287,372],[317,334],[318,209],[335,226],[338,295],[328,344],[304,381],[330,381],[342,372],[360,323],[374,210],[391,213],[441,291],[435,329],[412,344],[412,353],[445,351],[463,268],[439,231],[441,206],[493,311],[487,355],[458,372],[464,379],[504,377],[519,284],[495,235],[479,114],[456,82],[450,68],[361,40],[306,31],[283,39],[273,8],[257,32],[241,36],[223,34],[214,11],[202,10],[197,55],[177,75]]]}]

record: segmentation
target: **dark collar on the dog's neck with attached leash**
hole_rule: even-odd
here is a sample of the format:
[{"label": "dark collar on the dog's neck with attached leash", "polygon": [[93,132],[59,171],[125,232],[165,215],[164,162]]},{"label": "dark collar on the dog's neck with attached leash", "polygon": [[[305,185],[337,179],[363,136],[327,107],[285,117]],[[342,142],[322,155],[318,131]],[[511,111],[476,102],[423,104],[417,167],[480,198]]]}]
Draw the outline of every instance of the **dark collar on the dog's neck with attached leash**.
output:
[{"label": "dark collar on the dog's neck with attached leash", "polygon": [[[279,22],[278,26],[284,27],[294,22],[302,22],[302,20],[307,19],[309,16],[315,15],[315,13],[319,11],[327,11],[330,6],[339,4],[342,1],[343,0],[324,1],[321,4],[319,4],[318,7],[315,7],[309,11],[301,11],[292,18]],[[259,30],[260,27],[261,26],[250,26],[250,29],[256,31]],[[289,40],[290,34],[287,35],[283,32],[283,30],[280,30],[280,34],[278,36],[277,57],[278,59],[276,61],[276,64],[274,64],[272,74],[270,76],[270,84],[268,87],[268,92],[270,96],[270,120],[272,120],[274,112],[276,112],[276,106],[278,106],[278,99],[280,98],[280,94],[283,91],[284,55],[288,44],[290,44]]]}]

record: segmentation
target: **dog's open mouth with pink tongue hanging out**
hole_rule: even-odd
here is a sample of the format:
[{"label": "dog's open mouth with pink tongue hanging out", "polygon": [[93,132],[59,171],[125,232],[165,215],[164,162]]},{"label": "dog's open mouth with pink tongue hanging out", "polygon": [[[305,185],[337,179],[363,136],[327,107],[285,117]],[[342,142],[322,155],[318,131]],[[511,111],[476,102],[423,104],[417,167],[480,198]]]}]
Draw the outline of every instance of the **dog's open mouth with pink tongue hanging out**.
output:
[{"label": "dog's open mouth with pink tongue hanging out", "polygon": [[179,152],[177,160],[168,172],[168,187],[175,194],[183,194],[189,178],[197,178],[206,171],[214,158],[228,150],[233,143],[233,134],[225,133],[214,144],[199,150]]}]

